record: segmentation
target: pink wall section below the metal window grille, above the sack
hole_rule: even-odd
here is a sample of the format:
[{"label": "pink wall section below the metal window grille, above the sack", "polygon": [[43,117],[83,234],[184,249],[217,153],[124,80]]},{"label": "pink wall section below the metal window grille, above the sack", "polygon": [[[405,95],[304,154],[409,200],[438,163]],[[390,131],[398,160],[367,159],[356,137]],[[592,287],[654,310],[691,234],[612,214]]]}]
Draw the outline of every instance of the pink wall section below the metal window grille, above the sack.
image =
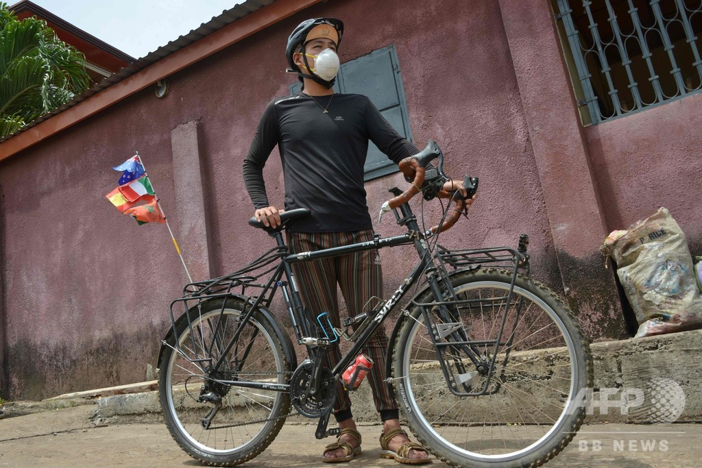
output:
[{"label": "pink wall section below the metal window grille, above the sack", "polygon": [[702,255],[702,94],[585,129],[609,229],[665,206]]}]

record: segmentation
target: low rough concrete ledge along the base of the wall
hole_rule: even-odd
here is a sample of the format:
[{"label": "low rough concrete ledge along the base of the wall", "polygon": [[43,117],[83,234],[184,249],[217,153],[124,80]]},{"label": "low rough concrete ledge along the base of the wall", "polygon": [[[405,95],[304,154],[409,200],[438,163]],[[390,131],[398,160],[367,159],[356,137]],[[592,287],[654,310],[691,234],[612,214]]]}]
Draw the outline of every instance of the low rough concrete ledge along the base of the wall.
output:
[{"label": "low rough concrete ledge along the base of the wall", "polygon": [[[635,394],[633,389],[644,393],[650,391],[651,382],[661,378],[676,382],[684,392],[685,408],[677,422],[702,421],[702,398],[698,392],[702,385],[702,330],[594,343],[591,349],[595,364],[595,386],[592,389],[595,408],[586,422],[651,422],[648,394],[646,403],[626,413],[616,405],[623,397],[631,399]],[[603,414],[604,407],[597,407],[603,397],[612,402],[606,414]],[[369,385],[361,385],[351,399],[357,422],[378,422]],[[158,392],[140,392],[99,399],[95,415],[112,417],[160,411]],[[305,418],[301,421],[305,421]]]}]

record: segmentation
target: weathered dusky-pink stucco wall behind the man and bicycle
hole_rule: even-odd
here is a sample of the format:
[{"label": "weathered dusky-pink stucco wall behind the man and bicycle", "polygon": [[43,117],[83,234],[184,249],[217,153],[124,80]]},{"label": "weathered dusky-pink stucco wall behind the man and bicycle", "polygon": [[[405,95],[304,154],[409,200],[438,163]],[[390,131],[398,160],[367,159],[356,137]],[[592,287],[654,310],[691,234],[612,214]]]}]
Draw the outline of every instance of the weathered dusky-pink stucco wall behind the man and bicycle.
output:
[{"label": "weathered dusky-pink stucco wall behind the man and bicycle", "polygon": [[[186,276],[165,227],[138,227],[104,198],[118,178],[110,167],[135,150],[194,279],[230,272],[272,245],[246,225],[252,206],[241,163],[263,108],[295,80],[284,73],[286,37],[301,20],[317,16],[345,21],[342,61],[395,44],[417,145],[434,138],[446,154],[447,173],[481,179],[470,220],[441,243],[515,246],[519,234],[529,233],[534,276],[567,293],[593,338],[621,335],[611,271],[597,248],[616,227],[616,215],[625,221],[644,216],[647,206],[630,211],[629,199],[649,187],[626,185],[630,171],[645,177],[640,167],[622,165],[618,152],[633,144],[619,139],[647,135],[648,124],[633,120],[668,119],[681,106],[694,113],[698,98],[583,132],[545,1],[345,0],[307,8],[168,76],[165,98],[142,91],[0,162],[4,396],[39,398],[140,381],[147,364],[155,365],[168,304]],[[670,126],[689,135],[698,128],[693,117]],[[616,130],[630,125],[638,133]],[[649,147],[639,145],[643,152]],[[185,171],[186,164],[199,174]],[[667,159],[657,164],[666,166]],[[619,181],[609,187],[621,189],[603,192],[602,166]],[[694,173],[676,174],[694,182]],[[270,200],[282,206],[277,150],[264,175]],[[369,182],[371,212],[388,187],[402,183],[397,175]],[[700,193],[680,187],[660,198],[673,215],[684,194]],[[188,196],[197,190],[201,199]],[[438,215],[430,209],[428,222]],[[391,219],[376,230],[399,233]],[[701,227],[686,227],[700,238]],[[383,251],[381,258],[387,293],[414,260],[411,250]]]}]

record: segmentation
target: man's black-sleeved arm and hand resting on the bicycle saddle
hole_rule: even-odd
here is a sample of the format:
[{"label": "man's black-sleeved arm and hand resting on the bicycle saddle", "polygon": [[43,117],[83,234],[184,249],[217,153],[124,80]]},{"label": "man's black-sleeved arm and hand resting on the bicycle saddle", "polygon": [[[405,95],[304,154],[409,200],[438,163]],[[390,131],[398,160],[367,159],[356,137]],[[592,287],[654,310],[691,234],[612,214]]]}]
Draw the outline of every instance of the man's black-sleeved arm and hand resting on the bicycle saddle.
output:
[{"label": "man's black-sleeved arm and hand resting on the bicycle saddle", "polygon": [[[244,178],[246,191],[249,192],[253,207],[256,208],[256,219],[259,221],[263,215],[263,224],[273,225],[275,227],[280,223],[278,209],[270,206],[268,196],[265,191],[265,182],[263,180],[263,166],[265,166],[270,152],[278,143],[278,120],[275,115],[275,105],[271,101],[263,111],[256,133],[253,135],[249,154],[244,159],[244,168],[241,175]],[[271,222],[268,222],[268,218]]]}]

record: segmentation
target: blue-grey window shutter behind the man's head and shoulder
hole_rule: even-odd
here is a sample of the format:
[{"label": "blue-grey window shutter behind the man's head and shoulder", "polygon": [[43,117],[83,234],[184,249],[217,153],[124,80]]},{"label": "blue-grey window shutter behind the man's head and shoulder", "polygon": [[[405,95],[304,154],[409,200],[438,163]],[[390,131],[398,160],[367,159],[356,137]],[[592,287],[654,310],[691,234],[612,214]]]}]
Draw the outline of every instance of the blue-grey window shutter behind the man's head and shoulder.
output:
[{"label": "blue-grey window shutter behind the man's head and shoulder", "polygon": [[[301,88],[302,84],[297,81],[290,85],[290,93],[299,93]],[[343,63],[334,84],[334,91],[368,96],[397,133],[412,140],[395,46],[384,47]],[[369,142],[364,180],[376,179],[397,171],[397,164],[380,152],[373,142]]]}]

